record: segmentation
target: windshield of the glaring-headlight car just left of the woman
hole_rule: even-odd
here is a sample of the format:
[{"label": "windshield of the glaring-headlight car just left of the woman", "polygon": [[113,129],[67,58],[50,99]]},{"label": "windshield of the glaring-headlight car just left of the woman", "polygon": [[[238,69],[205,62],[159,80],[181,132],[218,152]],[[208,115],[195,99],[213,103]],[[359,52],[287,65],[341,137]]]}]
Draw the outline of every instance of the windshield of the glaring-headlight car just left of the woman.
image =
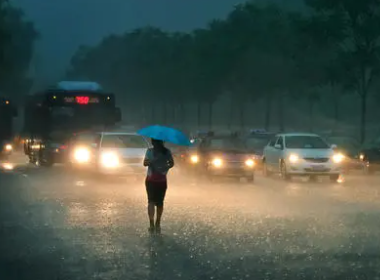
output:
[{"label": "windshield of the glaring-headlight car just left of the woman", "polygon": [[102,148],[147,148],[147,142],[139,135],[110,134],[104,135]]}]

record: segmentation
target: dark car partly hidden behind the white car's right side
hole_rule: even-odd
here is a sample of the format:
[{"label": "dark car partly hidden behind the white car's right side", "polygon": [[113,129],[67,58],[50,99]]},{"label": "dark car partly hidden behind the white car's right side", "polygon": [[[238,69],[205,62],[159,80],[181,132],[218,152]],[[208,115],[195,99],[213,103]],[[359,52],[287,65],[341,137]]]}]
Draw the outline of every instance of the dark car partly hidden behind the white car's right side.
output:
[{"label": "dark car partly hidden behind the white car's right side", "polygon": [[335,145],[335,151],[344,155],[342,166],[345,171],[362,170],[363,162],[359,158],[360,143],[353,137],[330,136],[326,139],[329,144]]}]

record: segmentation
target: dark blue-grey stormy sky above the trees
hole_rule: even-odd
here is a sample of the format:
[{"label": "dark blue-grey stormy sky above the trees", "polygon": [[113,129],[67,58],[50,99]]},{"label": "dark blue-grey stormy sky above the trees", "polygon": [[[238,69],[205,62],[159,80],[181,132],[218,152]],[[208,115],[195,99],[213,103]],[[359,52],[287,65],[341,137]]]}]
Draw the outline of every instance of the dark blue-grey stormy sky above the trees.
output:
[{"label": "dark blue-grey stormy sky above the trees", "polygon": [[78,46],[112,33],[153,25],[203,27],[243,0],[14,0],[41,34],[32,70],[41,83],[59,80]]}]

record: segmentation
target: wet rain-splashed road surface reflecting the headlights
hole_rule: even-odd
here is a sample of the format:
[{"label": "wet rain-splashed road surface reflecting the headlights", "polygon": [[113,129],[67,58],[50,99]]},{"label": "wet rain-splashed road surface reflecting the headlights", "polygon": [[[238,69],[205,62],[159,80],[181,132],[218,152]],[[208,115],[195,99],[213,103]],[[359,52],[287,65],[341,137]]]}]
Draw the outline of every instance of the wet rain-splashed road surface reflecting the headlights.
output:
[{"label": "wet rain-splashed road surface reflecting the headlights", "polygon": [[1,166],[1,280],[380,279],[380,175],[247,184],[173,173],[152,236],[142,180],[20,155]]}]

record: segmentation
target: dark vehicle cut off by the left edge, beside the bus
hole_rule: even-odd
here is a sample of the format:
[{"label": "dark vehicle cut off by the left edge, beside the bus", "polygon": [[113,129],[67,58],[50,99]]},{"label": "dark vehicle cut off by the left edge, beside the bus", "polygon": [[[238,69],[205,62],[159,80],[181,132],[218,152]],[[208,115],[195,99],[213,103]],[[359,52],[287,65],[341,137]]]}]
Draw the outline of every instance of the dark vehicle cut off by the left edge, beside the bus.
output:
[{"label": "dark vehicle cut off by the left edge, beside the bus", "polygon": [[13,151],[13,119],[17,108],[7,98],[0,97],[0,156],[7,157]]}]

